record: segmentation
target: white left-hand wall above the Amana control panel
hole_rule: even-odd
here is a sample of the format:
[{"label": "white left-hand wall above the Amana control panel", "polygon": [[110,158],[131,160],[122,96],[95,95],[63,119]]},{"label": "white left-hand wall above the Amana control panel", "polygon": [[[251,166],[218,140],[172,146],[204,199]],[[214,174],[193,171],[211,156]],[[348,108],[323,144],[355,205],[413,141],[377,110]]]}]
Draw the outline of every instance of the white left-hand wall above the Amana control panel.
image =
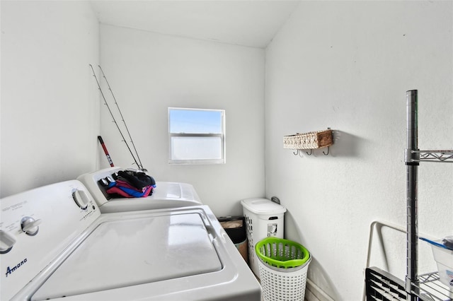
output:
[{"label": "white left-hand wall above the Amana control panel", "polygon": [[86,1],[1,1],[0,196],[96,168],[98,21]]}]

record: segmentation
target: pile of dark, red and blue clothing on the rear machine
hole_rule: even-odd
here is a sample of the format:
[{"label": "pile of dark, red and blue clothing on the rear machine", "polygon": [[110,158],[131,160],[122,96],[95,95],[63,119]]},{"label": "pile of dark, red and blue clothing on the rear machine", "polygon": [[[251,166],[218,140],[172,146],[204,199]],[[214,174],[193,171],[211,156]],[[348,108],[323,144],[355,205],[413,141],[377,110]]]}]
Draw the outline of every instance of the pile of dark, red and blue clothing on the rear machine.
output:
[{"label": "pile of dark, red and blue clothing on the rear machine", "polygon": [[105,192],[112,197],[142,198],[151,196],[154,188],[156,181],[144,172],[120,170],[116,179],[108,182]]}]

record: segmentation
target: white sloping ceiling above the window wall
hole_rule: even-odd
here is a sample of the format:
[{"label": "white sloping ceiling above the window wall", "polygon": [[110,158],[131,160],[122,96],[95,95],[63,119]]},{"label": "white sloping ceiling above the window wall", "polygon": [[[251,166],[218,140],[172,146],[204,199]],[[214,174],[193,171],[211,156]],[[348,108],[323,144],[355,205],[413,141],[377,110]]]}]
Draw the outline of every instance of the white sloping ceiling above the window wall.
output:
[{"label": "white sloping ceiling above the window wall", "polygon": [[92,0],[101,23],[265,48],[297,0]]}]

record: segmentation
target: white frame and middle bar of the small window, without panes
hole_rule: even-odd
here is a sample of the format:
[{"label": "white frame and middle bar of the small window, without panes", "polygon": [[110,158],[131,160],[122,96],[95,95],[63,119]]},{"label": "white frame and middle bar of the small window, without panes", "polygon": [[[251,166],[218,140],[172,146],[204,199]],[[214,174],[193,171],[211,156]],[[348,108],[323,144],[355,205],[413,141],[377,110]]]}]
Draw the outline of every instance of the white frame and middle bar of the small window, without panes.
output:
[{"label": "white frame and middle bar of the small window, without panes", "polygon": [[[205,111],[205,112],[220,112],[221,113],[221,134],[214,133],[171,133],[171,110],[193,110],[193,111]],[[168,164],[171,165],[197,165],[197,164],[225,164],[226,163],[226,133],[225,133],[225,110],[214,110],[214,109],[197,109],[187,107],[168,107]],[[217,137],[220,138],[220,157],[219,159],[172,159],[172,138],[173,137]]]}]

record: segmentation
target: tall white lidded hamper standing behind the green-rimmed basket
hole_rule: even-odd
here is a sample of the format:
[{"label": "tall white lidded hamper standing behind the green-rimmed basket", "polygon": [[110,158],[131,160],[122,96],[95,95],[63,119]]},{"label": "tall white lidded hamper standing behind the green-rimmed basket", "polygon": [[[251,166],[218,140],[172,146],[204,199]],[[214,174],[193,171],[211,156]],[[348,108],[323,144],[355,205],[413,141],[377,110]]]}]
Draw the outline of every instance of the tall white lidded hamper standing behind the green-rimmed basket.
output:
[{"label": "tall white lidded hamper standing behind the green-rimmed basket", "polygon": [[248,264],[259,278],[260,268],[255,245],[265,237],[283,238],[286,208],[268,199],[244,199],[241,201],[246,219],[248,240]]}]

